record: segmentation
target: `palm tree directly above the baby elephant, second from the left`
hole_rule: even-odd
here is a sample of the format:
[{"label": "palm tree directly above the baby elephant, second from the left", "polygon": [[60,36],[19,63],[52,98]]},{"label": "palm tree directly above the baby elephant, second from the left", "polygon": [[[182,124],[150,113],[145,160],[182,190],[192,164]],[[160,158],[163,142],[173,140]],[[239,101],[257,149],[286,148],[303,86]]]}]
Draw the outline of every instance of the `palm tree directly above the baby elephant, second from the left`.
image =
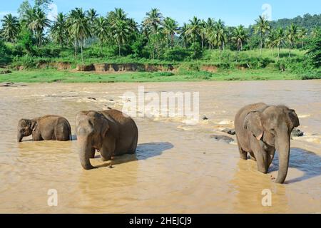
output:
[{"label": "palm tree directly above the baby elephant, second from the left", "polygon": [[49,19],[47,19],[46,14],[42,9],[37,8],[34,11],[33,19],[31,21],[31,24],[29,24],[29,27],[36,34],[36,37],[38,39],[38,46],[40,48],[42,46],[44,29],[48,26],[50,26],[50,21]]}]

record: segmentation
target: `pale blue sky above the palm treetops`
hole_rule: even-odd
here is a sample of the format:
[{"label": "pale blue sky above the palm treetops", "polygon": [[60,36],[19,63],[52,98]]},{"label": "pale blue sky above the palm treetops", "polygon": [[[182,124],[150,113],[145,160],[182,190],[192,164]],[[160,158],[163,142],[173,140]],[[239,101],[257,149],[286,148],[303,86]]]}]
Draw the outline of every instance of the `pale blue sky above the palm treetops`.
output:
[{"label": "pale blue sky above the palm treetops", "polygon": [[[16,14],[16,9],[22,2],[22,0],[1,1],[0,18],[7,13]],[[129,17],[141,22],[146,12],[156,7],[161,10],[163,16],[170,16],[179,24],[198,16],[201,19],[208,17],[223,19],[228,26],[254,24],[258,15],[269,11],[272,20],[293,18],[306,13],[321,13],[320,0],[54,0],[54,4],[51,15],[56,14],[56,9],[67,13],[75,7],[82,7],[94,8],[105,16],[106,12],[121,7]],[[270,6],[262,9],[263,4]]]}]

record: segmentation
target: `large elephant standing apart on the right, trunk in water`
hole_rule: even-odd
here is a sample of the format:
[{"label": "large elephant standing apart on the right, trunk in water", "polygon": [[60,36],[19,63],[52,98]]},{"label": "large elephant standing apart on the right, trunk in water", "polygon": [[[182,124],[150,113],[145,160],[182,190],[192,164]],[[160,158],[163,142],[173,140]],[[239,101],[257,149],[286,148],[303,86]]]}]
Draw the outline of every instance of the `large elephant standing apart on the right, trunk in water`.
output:
[{"label": "large elephant standing apart on the right, trunk in water", "polygon": [[256,160],[258,171],[267,173],[279,152],[279,171],[275,182],[284,183],[290,159],[290,135],[300,125],[295,110],[285,105],[255,103],[241,108],[235,115],[235,133],[240,158],[248,153]]}]

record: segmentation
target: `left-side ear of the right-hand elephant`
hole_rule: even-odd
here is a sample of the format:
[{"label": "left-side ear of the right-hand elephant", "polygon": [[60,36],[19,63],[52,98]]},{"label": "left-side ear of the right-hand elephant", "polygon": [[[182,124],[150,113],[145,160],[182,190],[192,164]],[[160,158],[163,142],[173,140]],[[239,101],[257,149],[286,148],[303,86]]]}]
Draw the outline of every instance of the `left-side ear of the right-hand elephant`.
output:
[{"label": "left-side ear of the right-hand elephant", "polygon": [[260,113],[248,113],[244,120],[244,128],[250,130],[257,140],[261,140],[263,137],[263,126]]}]

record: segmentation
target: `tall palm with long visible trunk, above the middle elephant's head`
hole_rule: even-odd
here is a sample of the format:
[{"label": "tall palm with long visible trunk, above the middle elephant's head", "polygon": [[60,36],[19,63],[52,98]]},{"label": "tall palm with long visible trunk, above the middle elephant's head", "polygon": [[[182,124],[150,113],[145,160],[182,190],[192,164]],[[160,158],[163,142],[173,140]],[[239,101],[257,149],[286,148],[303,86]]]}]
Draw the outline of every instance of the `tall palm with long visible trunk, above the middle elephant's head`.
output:
[{"label": "tall palm with long visible trunk, above the middle elephant's head", "polygon": [[[75,41],[78,41],[81,46],[81,61],[83,61],[83,41],[90,35],[90,28],[88,24],[88,18],[83,12],[83,9],[73,9],[69,16],[69,25],[72,36],[75,38]],[[75,42],[75,47],[77,42]]]}]

